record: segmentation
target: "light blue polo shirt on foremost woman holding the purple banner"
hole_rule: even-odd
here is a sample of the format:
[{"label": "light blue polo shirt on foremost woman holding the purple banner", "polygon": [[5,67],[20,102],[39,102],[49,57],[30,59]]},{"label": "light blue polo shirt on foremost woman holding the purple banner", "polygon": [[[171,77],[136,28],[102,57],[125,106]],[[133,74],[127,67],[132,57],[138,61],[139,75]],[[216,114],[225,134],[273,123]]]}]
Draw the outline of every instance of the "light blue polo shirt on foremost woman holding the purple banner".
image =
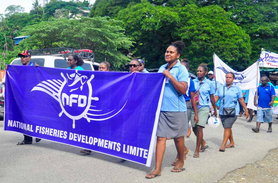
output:
[{"label": "light blue polo shirt on foremost woman holding the purple banner", "polygon": [[[158,73],[162,73],[163,70],[166,70],[167,65],[168,64],[162,65]],[[177,62],[175,66],[170,69],[170,73],[178,82],[188,82],[188,71],[180,62]],[[168,82],[165,83],[161,111],[185,112],[186,110],[187,108],[183,95],[175,90],[170,79],[168,79]]]}]

